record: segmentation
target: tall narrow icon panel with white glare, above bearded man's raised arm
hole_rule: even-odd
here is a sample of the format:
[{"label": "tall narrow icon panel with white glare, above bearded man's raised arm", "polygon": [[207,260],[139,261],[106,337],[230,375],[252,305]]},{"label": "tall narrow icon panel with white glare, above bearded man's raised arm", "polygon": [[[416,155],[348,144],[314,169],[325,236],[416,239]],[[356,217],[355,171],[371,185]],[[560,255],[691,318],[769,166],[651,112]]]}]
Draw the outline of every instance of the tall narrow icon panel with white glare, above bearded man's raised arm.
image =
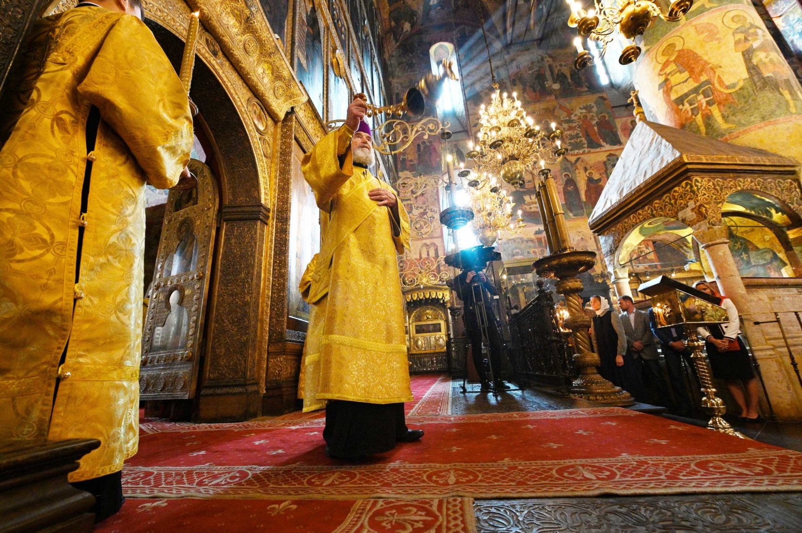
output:
[{"label": "tall narrow icon panel with white glare, above bearded man's raised arm", "polygon": [[295,74],[323,116],[323,25],[313,0],[298,0],[295,11]]}]

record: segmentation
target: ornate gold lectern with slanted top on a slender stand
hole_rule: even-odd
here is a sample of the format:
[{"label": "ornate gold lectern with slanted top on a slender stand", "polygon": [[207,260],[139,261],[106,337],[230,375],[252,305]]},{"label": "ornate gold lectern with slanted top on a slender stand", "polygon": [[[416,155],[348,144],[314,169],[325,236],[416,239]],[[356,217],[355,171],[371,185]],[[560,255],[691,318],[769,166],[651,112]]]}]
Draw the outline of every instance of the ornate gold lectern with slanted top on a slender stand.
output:
[{"label": "ornate gold lectern with slanted top on a slender stand", "polygon": [[727,311],[719,305],[719,298],[666,276],[646,281],[638,287],[638,292],[650,297],[658,328],[674,326],[685,330],[686,345],[691,348],[691,358],[702,384],[702,407],[711,414],[707,428],[743,438],[722,418],[727,406],[715,395],[710,361],[703,350],[704,341],[696,333],[700,326],[729,321]]}]

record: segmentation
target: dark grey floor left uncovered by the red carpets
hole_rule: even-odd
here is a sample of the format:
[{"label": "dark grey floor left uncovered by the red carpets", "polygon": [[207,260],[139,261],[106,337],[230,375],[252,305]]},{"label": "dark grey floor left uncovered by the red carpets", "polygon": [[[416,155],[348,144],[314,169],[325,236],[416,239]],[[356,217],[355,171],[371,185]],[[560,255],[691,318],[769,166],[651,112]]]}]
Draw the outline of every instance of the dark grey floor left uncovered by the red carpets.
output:
[{"label": "dark grey floor left uncovered by the red carpets", "polygon": [[[478,386],[452,382],[452,414],[562,410],[595,406],[548,394],[543,390],[509,390],[497,396],[476,392]],[[636,404],[636,409],[704,426],[697,418],[679,418],[662,407]],[[749,438],[802,451],[802,422],[733,424]],[[609,496],[476,500],[480,533],[607,533],[617,531],[802,531],[802,493]]]}]

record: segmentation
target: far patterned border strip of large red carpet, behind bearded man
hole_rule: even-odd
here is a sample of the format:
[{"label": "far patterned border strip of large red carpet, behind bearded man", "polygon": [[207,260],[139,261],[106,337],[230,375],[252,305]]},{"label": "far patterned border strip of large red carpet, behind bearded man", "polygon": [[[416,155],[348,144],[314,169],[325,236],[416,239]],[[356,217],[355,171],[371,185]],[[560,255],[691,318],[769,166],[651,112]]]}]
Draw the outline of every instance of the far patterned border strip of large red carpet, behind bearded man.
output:
[{"label": "far patterned border strip of large red carpet, behind bearded man", "polygon": [[[492,423],[508,420],[556,420],[559,418],[585,418],[585,417],[608,417],[621,416],[629,417],[637,415],[637,411],[622,409],[621,407],[599,407],[593,409],[565,409],[559,411],[526,411],[508,412],[491,414],[449,414],[449,415],[417,415],[412,423],[415,424],[454,424],[459,422],[482,422]],[[324,418],[311,419],[284,419],[270,418],[269,420],[259,420],[253,422],[222,422],[217,424],[191,424],[188,422],[153,422],[160,426],[157,430],[145,430],[142,436],[164,432],[194,432],[194,431],[219,431],[219,430],[272,430],[288,429],[301,430],[304,428],[323,427],[326,425]],[[148,424],[140,424],[148,426]]]}]

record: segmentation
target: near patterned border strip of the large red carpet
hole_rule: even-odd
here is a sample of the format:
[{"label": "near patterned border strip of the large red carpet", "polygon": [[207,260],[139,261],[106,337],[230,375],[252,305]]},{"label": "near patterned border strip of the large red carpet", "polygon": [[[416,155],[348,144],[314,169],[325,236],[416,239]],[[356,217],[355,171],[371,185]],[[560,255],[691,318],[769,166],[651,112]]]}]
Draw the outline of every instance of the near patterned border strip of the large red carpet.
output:
[{"label": "near patterned border strip of the large red carpet", "polygon": [[357,466],[127,466],[133,498],[530,498],[802,490],[802,454],[630,456]]}]

